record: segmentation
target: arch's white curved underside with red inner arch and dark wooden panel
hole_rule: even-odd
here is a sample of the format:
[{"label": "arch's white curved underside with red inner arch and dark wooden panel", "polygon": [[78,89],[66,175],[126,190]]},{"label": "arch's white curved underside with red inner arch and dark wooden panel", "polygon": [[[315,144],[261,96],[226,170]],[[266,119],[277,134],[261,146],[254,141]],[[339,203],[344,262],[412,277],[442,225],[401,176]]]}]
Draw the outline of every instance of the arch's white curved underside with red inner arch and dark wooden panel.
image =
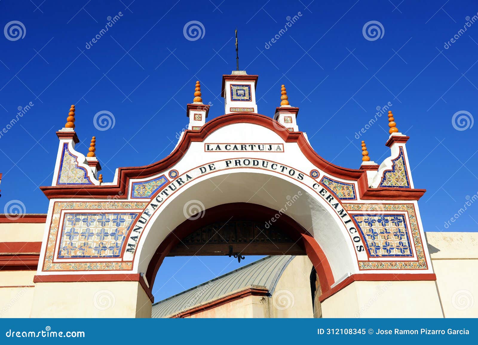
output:
[{"label": "arch's white curved underside with red inner arch and dark wooden panel", "polygon": [[[186,212],[191,203],[201,205],[199,213]],[[213,172],[174,193],[157,211],[150,216],[135,259],[149,286],[153,286],[163,260],[172,255],[305,253],[312,263],[304,273],[310,303],[312,265],[326,292],[334,277],[350,272],[355,260],[347,229],[329,203],[316,189],[280,173],[248,168]],[[269,241],[267,231],[263,234],[260,230],[272,232],[268,237],[276,240]],[[216,232],[217,242],[209,243],[207,237]],[[260,238],[258,234],[262,243],[254,241]],[[219,235],[224,237],[222,241]],[[186,242],[191,248],[186,248]]]}]

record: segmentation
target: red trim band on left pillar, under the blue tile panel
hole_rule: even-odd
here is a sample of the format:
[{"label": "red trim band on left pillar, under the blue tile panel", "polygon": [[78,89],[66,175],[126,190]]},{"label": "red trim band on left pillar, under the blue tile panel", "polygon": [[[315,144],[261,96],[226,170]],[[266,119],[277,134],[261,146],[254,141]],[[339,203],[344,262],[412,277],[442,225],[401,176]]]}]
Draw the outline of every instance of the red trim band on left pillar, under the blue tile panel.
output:
[{"label": "red trim band on left pillar, under the blue tile panel", "polygon": [[53,274],[53,275],[35,275],[34,283],[72,283],[82,281],[138,281],[144,292],[148,295],[151,302],[154,302],[151,289],[148,288],[145,281],[139,273],[120,273],[120,274]]}]

